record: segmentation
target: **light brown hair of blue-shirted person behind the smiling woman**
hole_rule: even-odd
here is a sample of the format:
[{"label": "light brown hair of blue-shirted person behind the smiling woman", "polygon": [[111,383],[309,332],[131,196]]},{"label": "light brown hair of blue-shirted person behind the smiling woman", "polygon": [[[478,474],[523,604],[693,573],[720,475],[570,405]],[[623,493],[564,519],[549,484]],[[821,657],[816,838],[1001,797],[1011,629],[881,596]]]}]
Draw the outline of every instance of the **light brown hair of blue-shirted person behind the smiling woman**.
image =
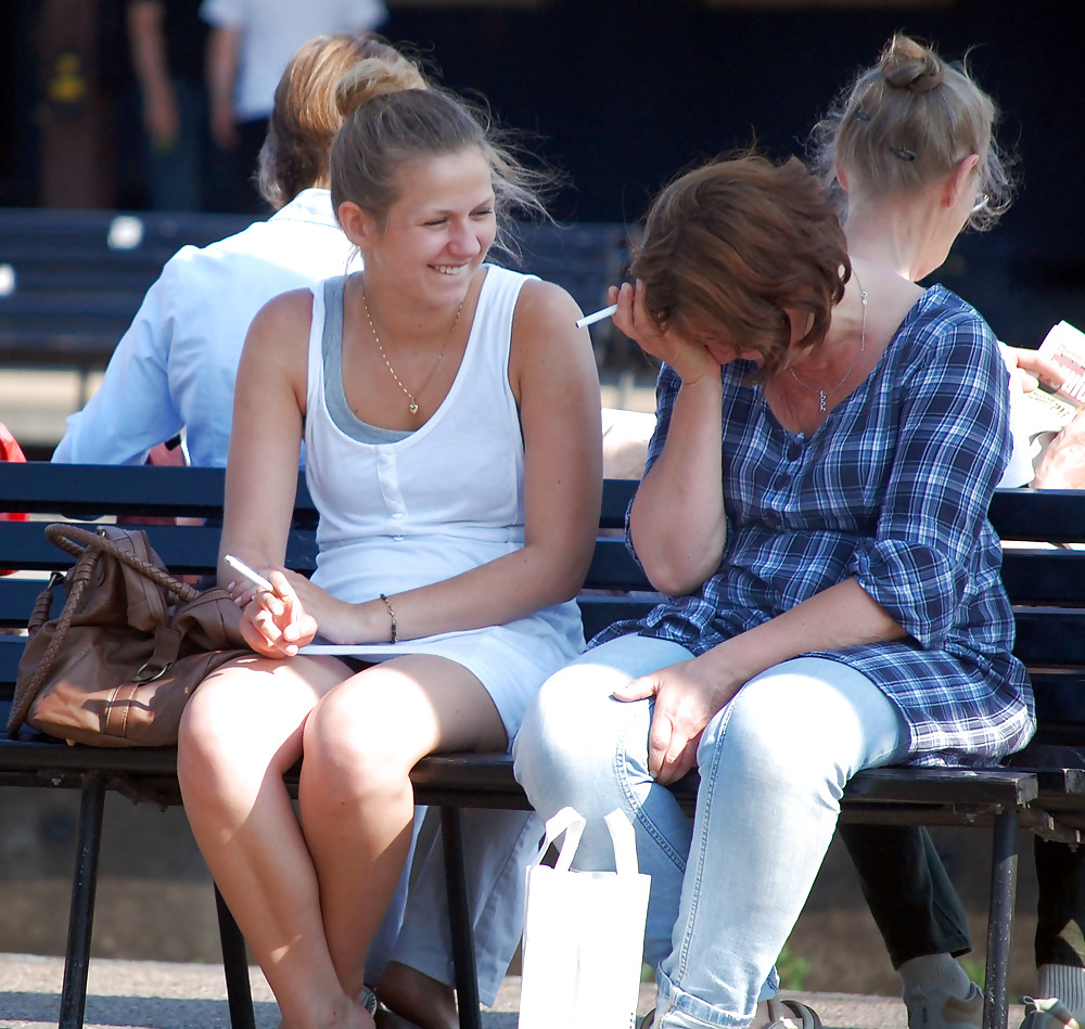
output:
[{"label": "light brown hair of blue-shirted person behind the smiling woman", "polygon": [[343,124],[336,95],[344,77],[374,97],[426,88],[418,65],[378,37],[326,34],[303,43],[279,79],[260,150],[259,190],[276,210],[327,183],[332,140]]}]

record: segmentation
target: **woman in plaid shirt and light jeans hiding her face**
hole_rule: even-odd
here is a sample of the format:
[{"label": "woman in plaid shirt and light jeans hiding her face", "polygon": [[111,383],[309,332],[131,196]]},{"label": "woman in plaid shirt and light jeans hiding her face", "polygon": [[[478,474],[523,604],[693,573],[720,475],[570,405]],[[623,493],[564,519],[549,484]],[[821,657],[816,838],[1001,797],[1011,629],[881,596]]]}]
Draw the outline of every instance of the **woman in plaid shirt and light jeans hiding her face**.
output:
[{"label": "woman in plaid shirt and light jeans hiding her face", "polygon": [[[974,193],[940,222],[948,237]],[[987,505],[1007,371],[959,297],[848,256],[792,158],[666,188],[613,296],[664,363],[627,537],[666,597],[544,684],[514,745],[546,820],[624,811],[662,1029],[816,1029],[774,972],[864,768],[984,764],[1035,721]],[[692,825],[667,785],[697,768]]]}]

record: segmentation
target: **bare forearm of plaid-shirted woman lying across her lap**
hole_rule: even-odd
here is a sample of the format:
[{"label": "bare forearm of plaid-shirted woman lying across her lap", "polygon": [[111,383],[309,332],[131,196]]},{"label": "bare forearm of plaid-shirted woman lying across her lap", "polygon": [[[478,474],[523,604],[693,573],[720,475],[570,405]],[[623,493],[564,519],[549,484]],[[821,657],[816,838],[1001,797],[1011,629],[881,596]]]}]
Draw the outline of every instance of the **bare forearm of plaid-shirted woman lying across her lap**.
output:
[{"label": "bare forearm of plaid-shirted woman lying across her lap", "polygon": [[841,651],[906,635],[857,580],[845,579],[697,660],[709,669],[718,667],[735,681],[749,682],[766,669],[810,651]]}]

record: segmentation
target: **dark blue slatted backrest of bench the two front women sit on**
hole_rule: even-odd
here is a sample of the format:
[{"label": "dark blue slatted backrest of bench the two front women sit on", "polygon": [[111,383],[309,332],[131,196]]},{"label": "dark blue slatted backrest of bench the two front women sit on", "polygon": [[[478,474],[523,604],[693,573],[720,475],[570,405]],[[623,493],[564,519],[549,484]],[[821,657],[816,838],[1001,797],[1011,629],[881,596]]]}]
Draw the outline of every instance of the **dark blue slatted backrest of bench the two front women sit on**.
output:
[{"label": "dark blue slatted backrest of bench the two front women sit on", "polygon": [[[621,527],[636,483],[608,480],[597,541],[579,596],[587,635],[621,617],[636,616],[655,600],[629,556]],[[213,468],[105,467],[47,462],[0,464],[0,511],[29,512],[36,520],[0,520],[0,629],[26,625],[41,578],[26,573],[64,569],[72,558],[44,539],[42,524],[66,518],[91,523],[116,515],[221,516],[224,473]],[[1041,736],[1046,742],[1085,742],[1085,550],[1051,543],[1085,541],[1085,492],[1006,490],[996,493],[991,517],[1008,545],[1003,578],[1017,616],[1016,653],[1036,687]],[[311,571],[317,515],[298,480],[286,562]],[[175,574],[212,571],[219,530],[210,526],[146,526],[152,544]],[[1027,543],[1027,541],[1034,541]],[[0,634],[0,705],[10,702],[23,636]]]}]

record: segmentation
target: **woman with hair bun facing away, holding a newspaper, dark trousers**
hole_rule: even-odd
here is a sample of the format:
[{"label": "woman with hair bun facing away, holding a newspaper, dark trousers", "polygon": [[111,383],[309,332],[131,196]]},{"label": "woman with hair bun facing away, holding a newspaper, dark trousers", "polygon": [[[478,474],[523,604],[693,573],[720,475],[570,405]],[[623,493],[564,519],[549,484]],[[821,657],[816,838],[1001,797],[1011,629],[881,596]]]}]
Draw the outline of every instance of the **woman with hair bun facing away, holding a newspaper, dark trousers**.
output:
[{"label": "woman with hair bun facing away, holding a newspaper, dark trousers", "polygon": [[[996,115],[966,65],[893,37],[813,136],[812,162],[840,203],[848,253],[918,281],[941,267],[961,229],[994,224],[1011,200],[993,134]],[[967,218],[947,220],[961,197],[970,204]],[[1034,388],[1036,376],[1058,385],[1061,375],[1035,351],[1004,347],[1004,356],[1014,371],[1012,424],[1022,388]],[[1014,460],[999,485],[1085,486],[1083,425],[1078,415],[1035,474],[1031,441],[1016,436]],[[981,991],[955,960],[971,949],[965,912],[930,836],[911,826],[852,824],[840,833],[902,977],[910,1029],[979,1027]],[[1039,998],[1025,1000],[1024,1027],[1076,1029],[1085,1020],[1085,858],[1038,838],[1036,856]]]}]

